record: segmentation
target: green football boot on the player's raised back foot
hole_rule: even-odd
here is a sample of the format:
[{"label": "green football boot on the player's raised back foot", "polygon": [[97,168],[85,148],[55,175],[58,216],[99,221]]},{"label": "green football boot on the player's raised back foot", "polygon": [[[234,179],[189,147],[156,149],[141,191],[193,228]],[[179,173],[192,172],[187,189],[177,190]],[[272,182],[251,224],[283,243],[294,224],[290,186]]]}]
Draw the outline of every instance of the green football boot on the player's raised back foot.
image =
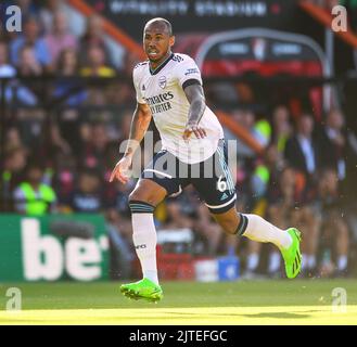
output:
[{"label": "green football boot on the player's raised back foot", "polygon": [[288,249],[281,248],[280,252],[285,262],[285,272],[288,279],[295,279],[302,269],[302,253],[299,252],[299,243],[302,241],[302,233],[295,229],[290,228],[286,230],[291,235],[293,243]]}]

